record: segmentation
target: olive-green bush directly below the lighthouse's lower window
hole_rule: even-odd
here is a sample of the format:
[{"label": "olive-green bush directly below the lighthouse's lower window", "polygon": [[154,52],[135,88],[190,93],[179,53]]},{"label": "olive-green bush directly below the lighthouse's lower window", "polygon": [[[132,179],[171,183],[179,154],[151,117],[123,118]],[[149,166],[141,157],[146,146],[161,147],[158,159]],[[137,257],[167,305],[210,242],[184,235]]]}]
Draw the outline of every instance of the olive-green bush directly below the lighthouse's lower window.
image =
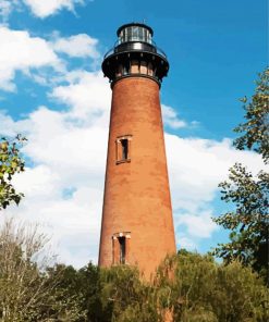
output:
[{"label": "olive-green bush directly below the lighthouse's lower window", "polygon": [[101,271],[101,300],[112,322],[162,321],[156,289],[140,280],[136,268],[112,267]]}]

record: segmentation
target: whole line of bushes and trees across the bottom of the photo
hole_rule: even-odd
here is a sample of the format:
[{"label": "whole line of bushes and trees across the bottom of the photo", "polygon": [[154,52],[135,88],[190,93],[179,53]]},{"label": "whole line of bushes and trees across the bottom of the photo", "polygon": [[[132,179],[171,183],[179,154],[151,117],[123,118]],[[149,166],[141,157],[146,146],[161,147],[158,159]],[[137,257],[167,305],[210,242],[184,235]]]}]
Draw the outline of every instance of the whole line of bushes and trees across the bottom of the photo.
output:
[{"label": "whole line of bushes and trees across the bottom of the photo", "polygon": [[[152,281],[136,268],[81,270],[53,264],[36,226],[7,221],[0,232],[2,322],[268,321],[268,288],[239,261],[220,264],[186,250],[167,258]],[[37,264],[37,262],[39,264]]]}]

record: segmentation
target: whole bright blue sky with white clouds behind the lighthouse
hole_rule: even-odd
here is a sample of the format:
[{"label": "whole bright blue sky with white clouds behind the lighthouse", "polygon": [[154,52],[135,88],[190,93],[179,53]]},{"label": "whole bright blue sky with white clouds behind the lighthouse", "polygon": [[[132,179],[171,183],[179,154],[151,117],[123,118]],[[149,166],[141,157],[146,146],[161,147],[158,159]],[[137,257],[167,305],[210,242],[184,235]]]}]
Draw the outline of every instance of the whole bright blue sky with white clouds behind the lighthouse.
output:
[{"label": "whole bright blue sky with white clouds behind the lighthouse", "polygon": [[161,86],[178,248],[207,252],[228,240],[212,218],[231,207],[218,184],[255,152],[232,146],[268,64],[266,0],[0,0],[0,135],[28,139],[25,194],[5,216],[38,222],[58,260],[97,262],[111,89],[101,72],[119,26],[145,22],[170,71]]}]

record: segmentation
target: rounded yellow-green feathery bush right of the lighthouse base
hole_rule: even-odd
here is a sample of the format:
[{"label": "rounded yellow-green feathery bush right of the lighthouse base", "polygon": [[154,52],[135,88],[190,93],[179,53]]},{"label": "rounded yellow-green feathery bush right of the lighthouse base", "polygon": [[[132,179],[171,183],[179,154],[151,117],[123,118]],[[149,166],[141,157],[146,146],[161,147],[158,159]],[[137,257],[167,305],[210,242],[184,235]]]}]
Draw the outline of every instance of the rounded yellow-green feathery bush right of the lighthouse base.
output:
[{"label": "rounded yellow-green feathery bush right of the lighthouse base", "polygon": [[224,265],[210,256],[180,252],[158,272],[158,287],[170,288],[173,321],[267,321],[268,289],[239,261]]}]

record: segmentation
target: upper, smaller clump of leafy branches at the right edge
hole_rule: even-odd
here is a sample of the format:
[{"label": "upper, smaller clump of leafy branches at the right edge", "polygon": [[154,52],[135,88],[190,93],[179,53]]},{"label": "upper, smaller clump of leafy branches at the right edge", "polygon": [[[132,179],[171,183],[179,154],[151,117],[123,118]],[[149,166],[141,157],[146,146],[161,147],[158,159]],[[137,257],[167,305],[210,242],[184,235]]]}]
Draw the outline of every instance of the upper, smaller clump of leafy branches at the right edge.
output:
[{"label": "upper, smaller clump of leafy branches at the right edge", "polygon": [[[244,103],[247,98],[242,99]],[[244,106],[246,122],[234,131],[243,135],[234,140],[237,149],[254,149],[267,163],[269,160],[269,69],[259,74],[252,100]]]}]

